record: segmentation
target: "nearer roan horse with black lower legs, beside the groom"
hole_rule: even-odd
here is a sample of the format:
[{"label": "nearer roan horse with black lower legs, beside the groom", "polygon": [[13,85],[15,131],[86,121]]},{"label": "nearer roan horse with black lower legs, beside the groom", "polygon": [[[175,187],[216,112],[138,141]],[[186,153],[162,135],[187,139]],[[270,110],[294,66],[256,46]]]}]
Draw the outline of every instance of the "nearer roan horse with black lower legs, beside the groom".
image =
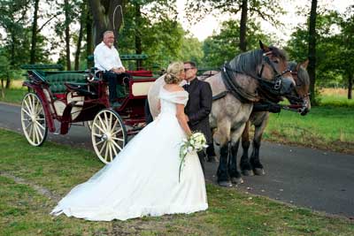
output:
[{"label": "nearer roan horse with black lower legs, beside the groom", "polygon": [[[236,145],[250,118],[253,103],[266,97],[290,94],[295,80],[289,73],[288,62],[281,49],[267,47],[242,53],[224,65],[221,72],[206,79],[212,87],[210,123],[214,141],[219,143],[218,183],[231,187],[239,183]],[[261,91],[261,92],[260,92]]]}]

